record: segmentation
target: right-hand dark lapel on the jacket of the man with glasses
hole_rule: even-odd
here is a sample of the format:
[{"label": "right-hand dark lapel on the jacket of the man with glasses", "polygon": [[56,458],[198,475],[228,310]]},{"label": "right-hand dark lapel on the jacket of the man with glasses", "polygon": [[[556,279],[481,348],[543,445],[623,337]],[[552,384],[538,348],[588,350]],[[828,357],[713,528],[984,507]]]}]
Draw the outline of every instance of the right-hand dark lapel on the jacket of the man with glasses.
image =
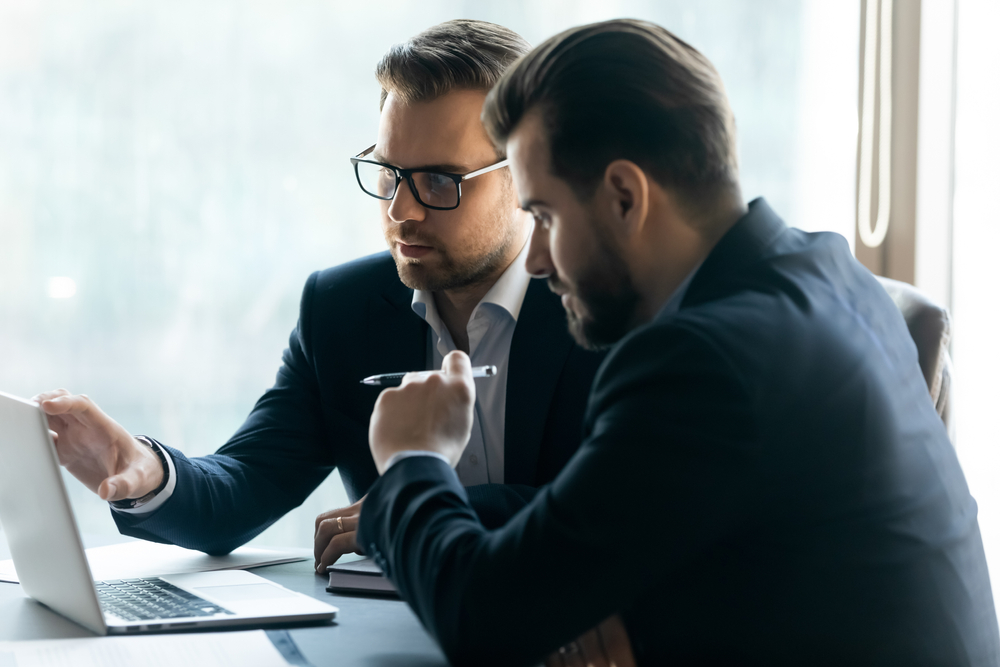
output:
[{"label": "right-hand dark lapel on the jacket of the man with glasses", "polygon": [[524,295],[510,343],[504,425],[504,482],[534,485],[549,405],[573,349],[559,297],[543,280]]}]

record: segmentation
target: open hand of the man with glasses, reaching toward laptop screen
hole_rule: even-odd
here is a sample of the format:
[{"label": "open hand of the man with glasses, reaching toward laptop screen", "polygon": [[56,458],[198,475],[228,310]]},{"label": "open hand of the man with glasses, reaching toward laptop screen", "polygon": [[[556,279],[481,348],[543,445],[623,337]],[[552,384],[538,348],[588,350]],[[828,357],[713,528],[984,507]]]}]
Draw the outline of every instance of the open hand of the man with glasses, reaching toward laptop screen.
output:
[{"label": "open hand of the man with glasses, reaching toward laptop screen", "polygon": [[57,389],[32,400],[48,415],[59,463],[101,499],[141,498],[163,481],[160,457],[87,396]]}]

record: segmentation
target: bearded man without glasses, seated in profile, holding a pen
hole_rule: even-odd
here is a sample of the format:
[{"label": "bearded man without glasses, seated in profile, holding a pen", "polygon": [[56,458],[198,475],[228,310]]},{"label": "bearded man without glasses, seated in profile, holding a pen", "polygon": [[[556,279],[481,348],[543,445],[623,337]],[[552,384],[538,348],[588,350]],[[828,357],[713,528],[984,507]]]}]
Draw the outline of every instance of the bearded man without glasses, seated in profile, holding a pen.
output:
[{"label": "bearded man without glasses, seated in profile, holding a pen", "polygon": [[842,237],[742,203],[711,63],[650,23],[576,28],[484,121],[528,269],[613,347],[580,450],[496,530],[451,467],[465,355],[376,403],[359,539],[451,661],[997,664],[976,504],[906,325]]}]

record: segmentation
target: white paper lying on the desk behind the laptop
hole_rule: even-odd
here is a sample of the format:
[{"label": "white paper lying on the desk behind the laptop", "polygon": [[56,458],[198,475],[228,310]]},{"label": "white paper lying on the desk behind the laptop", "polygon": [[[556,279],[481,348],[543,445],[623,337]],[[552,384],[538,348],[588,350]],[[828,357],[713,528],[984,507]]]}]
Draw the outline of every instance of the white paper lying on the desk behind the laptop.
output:
[{"label": "white paper lying on the desk behind the laptop", "polygon": [[[95,581],[158,577],[212,570],[245,570],[312,558],[311,549],[272,551],[240,547],[226,556],[209,556],[200,551],[156,542],[124,542],[87,549],[90,572]],[[0,581],[18,583],[14,561],[0,561]],[[0,667],[7,667],[0,662]]]}]

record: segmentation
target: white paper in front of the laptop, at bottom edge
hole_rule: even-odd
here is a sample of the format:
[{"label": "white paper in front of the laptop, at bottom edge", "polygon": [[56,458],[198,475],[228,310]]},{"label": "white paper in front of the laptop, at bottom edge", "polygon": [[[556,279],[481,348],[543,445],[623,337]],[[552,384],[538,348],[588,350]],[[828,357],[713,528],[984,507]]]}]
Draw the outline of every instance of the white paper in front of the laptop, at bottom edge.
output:
[{"label": "white paper in front of the laptop, at bottom edge", "polygon": [[263,630],[0,642],[0,667],[288,667]]}]

